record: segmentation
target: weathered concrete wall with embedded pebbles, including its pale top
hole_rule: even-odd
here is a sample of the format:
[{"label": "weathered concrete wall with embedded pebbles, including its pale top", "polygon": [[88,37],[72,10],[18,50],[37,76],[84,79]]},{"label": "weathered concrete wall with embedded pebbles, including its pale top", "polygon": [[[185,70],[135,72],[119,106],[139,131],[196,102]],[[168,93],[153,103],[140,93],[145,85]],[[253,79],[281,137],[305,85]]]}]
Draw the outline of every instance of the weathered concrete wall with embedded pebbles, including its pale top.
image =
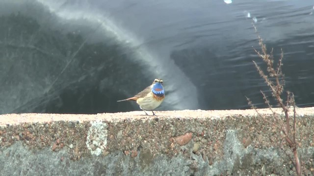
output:
[{"label": "weathered concrete wall with embedded pebbles, including its pale top", "polygon": [[[295,175],[283,134],[254,110],[155,113],[0,115],[0,175]],[[297,120],[298,152],[313,176],[314,108],[297,109]]]}]

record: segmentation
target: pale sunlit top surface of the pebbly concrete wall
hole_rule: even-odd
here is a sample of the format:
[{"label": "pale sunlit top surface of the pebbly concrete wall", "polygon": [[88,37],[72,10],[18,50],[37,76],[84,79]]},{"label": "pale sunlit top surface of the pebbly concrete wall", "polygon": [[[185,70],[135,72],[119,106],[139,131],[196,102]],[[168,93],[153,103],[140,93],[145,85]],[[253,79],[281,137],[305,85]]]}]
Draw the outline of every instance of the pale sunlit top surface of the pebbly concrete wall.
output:
[{"label": "pale sunlit top surface of the pebbly concrete wall", "polygon": [[[282,114],[281,109],[274,109],[277,113]],[[292,110],[292,108],[290,109]],[[272,114],[269,109],[259,109],[261,114]],[[151,112],[148,111],[149,114]],[[170,118],[223,118],[230,115],[255,116],[255,110],[174,110],[174,111],[155,111],[157,117]],[[313,115],[314,107],[311,108],[297,108],[298,115]],[[126,118],[141,119],[154,118],[154,116],[145,115],[144,111],[131,111],[119,113],[99,113],[95,115],[87,114],[42,114],[42,113],[25,113],[25,114],[3,114],[0,115],[1,125],[15,125],[20,123],[43,123],[52,121],[91,121],[91,120],[121,120]]]}]

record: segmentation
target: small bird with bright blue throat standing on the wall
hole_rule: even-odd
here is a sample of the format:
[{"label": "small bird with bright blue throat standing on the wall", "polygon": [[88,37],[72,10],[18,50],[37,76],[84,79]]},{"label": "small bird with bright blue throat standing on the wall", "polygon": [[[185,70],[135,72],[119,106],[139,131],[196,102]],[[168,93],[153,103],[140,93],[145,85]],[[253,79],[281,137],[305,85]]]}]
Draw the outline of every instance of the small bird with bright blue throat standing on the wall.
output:
[{"label": "small bird with bright blue throat standing on the wall", "polygon": [[146,115],[148,114],[145,110],[151,110],[153,115],[156,115],[153,110],[155,110],[165,98],[165,90],[163,89],[162,82],[163,81],[161,79],[155,79],[151,86],[145,88],[135,96],[124,100],[119,100],[117,102],[126,100],[136,101],[136,103],[139,105],[139,108],[144,110]]}]

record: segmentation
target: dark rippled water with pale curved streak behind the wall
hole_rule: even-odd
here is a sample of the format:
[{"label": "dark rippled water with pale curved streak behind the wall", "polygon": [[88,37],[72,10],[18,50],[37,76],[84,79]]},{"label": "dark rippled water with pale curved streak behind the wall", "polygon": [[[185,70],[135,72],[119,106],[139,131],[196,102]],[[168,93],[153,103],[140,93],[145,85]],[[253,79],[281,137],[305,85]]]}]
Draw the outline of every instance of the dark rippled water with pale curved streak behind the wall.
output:
[{"label": "dark rippled water with pale curved streak behind the wall", "polygon": [[0,113],[139,110],[116,100],[162,78],[158,110],[264,107],[252,22],[285,54],[286,90],[314,105],[310,0],[0,1]]}]

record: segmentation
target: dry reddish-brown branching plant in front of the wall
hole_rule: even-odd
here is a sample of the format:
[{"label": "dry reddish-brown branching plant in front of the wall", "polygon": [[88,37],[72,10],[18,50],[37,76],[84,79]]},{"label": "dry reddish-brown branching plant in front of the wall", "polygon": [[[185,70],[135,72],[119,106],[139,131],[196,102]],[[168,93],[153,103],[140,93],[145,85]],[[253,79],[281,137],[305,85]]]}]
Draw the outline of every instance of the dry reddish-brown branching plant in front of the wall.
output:
[{"label": "dry reddish-brown branching plant in front of the wall", "polygon": [[[255,32],[257,32],[257,28],[256,26],[253,24]],[[296,111],[295,111],[295,101],[294,101],[294,95],[293,93],[290,93],[289,91],[287,92],[288,94],[288,98],[287,98],[287,105],[284,104],[283,100],[281,99],[281,94],[283,93],[284,90],[284,75],[282,73],[282,68],[281,66],[282,64],[282,60],[284,57],[283,54],[283,50],[281,50],[281,56],[279,58],[279,62],[277,65],[277,68],[275,69],[273,66],[273,62],[274,62],[274,57],[273,57],[273,50],[271,50],[270,55],[267,54],[267,49],[266,49],[266,45],[263,44],[262,42],[262,37],[258,34],[258,39],[259,39],[259,45],[261,46],[262,49],[262,53],[260,53],[259,51],[257,51],[256,49],[255,52],[258,54],[258,56],[260,58],[262,58],[263,62],[266,63],[267,65],[267,72],[268,75],[271,78],[274,78],[274,82],[268,78],[267,75],[264,74],[263,70],[256,64],[256,62],[253,61],[254,65],[256,66],[260,76],[264,79],[265,83],[267,84],[267,86],[270,88],[271,92],[272,92],[272,96],[277,100],[279,106],[283,109],[284,113],[285,113],[285,119],[286,119],[286,125],[281,124],[281,131],[285,134],[285,139],[286,142],[289,146],[289,148],[292,150],[292,153],[294,155],[294,162],[292,161],[292,158],[286,153],[286,151],[284,150],[285,154],[288,155],[288,157],[290,158],[290,160],[292,161],[295,169],[296,169],[296,174],[298,176],[301,176],[301,163],[302,160],[299,160],[298,157],[298,153],[297,153],[297,148],[298,148],[298,144],[296,142],[295,139],[295,133],[296,133]],[[261,91],[262,95],[263,95],[263,99],[265,100],[265,104],[269,107],[269,109],[272,111],[272,113],[274,114],[274,117],[276,119],[277,124],[275,124],[275,126],[277,126],[279,124],[279,118],[276,115],[276,113],[272,110],[269,101],[267,100],[266,95]],[[256,109],[256,107],[254,107],[254,105],[252,104],[252,102],[247,98],[248,104],[254,109],[256,110],[256,112],[258,113],[258,115],[260,117],[262,117],[262,115],[258,112],[258,110]],[[289,137],[289,132],[290,132],[290,122],[289,122],[289,114],[288,114],[288,105],[292,105],[293,106],[293,138],[291,140],[291,138]],[[265,118],[264,121],[271,123],[270,121],[266,120]],[[272,125],[274,125],[273,123],[271,123]]]}]

